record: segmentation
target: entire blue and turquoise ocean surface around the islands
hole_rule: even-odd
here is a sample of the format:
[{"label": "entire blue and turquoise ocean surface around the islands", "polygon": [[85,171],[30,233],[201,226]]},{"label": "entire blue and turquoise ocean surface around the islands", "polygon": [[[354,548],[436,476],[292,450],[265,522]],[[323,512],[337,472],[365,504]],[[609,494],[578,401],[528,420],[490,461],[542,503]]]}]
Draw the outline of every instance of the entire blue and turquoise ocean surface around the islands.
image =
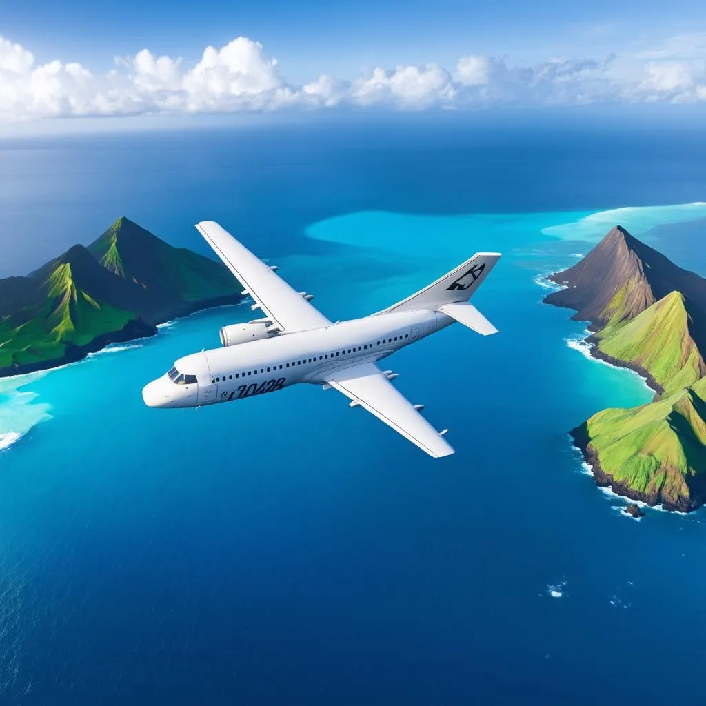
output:
[{"label": "entire blue and turquoise ocean surface around the islands", "polygon": [[[118,215],[205,253],[192,224],[213,218],[335,320],[503,252],[474,298],[499,335],[452,327],[390,359],[450,428],[443,461],[334,390],[143,406],[146,381],[246,307],[0,381],[0,701],[702,700],[705,515],[638,522],[595,487],[567,431],[652,393],[541,304],[542,275],[614,222],[706,275],[706,206],[662,208],[703,200],[705,148],[666,129],[420,119],[0,143],[1,275]],[[624,206],[642,208],[604,213]]]}]

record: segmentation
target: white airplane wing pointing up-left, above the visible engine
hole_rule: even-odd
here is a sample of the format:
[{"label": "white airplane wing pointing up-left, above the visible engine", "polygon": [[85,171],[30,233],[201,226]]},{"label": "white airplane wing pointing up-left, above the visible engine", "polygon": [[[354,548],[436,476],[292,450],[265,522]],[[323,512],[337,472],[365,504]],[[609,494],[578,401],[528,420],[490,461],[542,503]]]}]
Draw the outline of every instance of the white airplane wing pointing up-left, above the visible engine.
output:
[{"label": "white airplane wing pointing up-left, above the visible engine", "polygon": [[331,323],[304,299],[303,293],[289,287],[269,265],[265,265],[220,225],[203,221],[197,223],[196,228],[243,285],[243,294],[249,294],[281,330],[303,331]]}]

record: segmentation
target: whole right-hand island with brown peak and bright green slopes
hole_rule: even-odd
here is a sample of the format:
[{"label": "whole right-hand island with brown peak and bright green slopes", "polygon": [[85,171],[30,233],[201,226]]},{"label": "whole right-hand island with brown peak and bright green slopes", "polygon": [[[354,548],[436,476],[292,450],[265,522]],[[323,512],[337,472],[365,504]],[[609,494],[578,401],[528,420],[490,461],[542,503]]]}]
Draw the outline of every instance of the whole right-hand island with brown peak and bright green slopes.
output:
[{"label": "whole right-hand island with brown peak and bright green slopes", "polygon": [[591,354],[644,376],[647,405],[604,409],[571,430],[599,486],[666,510],[706,502],[706,280],[616,226],[549,277],[544,301],[587,321]]}]

